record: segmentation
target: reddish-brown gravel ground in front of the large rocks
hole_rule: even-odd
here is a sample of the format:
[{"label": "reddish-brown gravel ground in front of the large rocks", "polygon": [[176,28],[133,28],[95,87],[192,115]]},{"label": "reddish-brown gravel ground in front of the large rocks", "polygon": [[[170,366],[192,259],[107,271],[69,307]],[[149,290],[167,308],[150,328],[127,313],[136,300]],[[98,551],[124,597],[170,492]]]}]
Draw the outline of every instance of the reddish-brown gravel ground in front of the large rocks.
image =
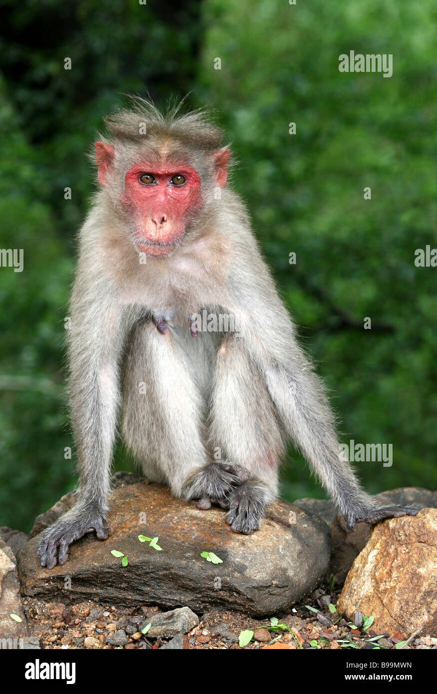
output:
[{"label": "reddish-brown gravel ground in front of the large rocks", "polygon": [[[184,648],[240,649],[238,637],[247,630],[254,632],[254,640],[245,646],[247,649],[372,649],[377,645],[384,649],[399,648],[401,634],[381,636],[371,625],[364,630],[365,623],[355,627],[338,613],[331,612],[328,604],[335,605],[338,594],[339,591],[331,592],[325,586],[306,601],[318,613],[305,605],[297,605],[290,613],[278,614],[272,619],[258,620],[238,612],[210,610],[199,614],[200,623],[184,638]],[[168,638],[147,638],[138,631],[138,625],[144,623],[148,615],[161,611],[158,607],[125,609],[94,602],[63,604],[27,598],[24,610],[31,633],[38,636],[41,648],[156,650],[170,641]],[[360,620],[361,615],[357,613],[358,625]],[[377,636],[381,638],[370,641]],[[420,636],[415,636],[405,648],[437,649],[437,639],[422,641]]]}]

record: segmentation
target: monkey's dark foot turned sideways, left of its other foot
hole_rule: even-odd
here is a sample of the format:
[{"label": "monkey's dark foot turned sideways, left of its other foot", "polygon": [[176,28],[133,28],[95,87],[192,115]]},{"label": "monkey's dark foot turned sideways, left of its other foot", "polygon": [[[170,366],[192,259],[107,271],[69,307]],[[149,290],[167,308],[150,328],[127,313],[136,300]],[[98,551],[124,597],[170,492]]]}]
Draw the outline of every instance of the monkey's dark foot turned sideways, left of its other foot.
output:
[{"label": "monkey's dark foot turned sideways, left of its other foot", "polygon": [[213,462],[195,470],[185,480],[184,496],[187,499],[200,499],[199,509],[210,509],[211,503],[229,509],[229,498],[233,489],[247,480],[249,473],[238,465]]}]

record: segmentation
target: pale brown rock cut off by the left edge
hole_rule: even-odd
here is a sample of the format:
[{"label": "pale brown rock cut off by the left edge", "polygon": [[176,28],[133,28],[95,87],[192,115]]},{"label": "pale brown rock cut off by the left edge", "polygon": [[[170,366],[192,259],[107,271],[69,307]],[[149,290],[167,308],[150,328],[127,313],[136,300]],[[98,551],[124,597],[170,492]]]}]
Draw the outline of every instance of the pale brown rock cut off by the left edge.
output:
[{"label": "pale brown rock cut off by the left edge", "polygon": [[[16,614],[22,621],[15,621],[11,614]],[[9,545],[0,539],[0,638],[26,634],[27,623],[19,594],[17,561]]]}]

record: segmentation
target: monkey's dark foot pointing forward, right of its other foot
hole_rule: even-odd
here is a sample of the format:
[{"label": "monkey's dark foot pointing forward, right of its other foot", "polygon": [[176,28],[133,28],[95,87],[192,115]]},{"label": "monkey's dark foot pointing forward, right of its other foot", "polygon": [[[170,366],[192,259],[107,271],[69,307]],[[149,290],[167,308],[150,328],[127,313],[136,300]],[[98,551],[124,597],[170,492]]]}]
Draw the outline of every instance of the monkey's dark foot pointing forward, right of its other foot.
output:
[{"label": "monkey's dark foot pointing forward, right of its other foot", "polygon": [[231,495],[226,521],[233,532],[246,535],[259,527],[265,507],[265,493],[259,483],[252,480],[243,482]]}]

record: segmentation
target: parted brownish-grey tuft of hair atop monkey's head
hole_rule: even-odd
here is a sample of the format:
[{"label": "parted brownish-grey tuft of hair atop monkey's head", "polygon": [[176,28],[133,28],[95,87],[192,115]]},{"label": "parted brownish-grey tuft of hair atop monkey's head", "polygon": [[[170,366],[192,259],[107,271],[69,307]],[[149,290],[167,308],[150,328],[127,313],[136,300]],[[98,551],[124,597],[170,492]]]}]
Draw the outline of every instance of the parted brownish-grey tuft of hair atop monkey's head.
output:
[{"label": "parted brownish-grey tuft of hair atop monkey's head", "polygon": [[199,108],[183,113],[185,99],[169,102],[160,110],[148,99],[129,96],[128,108],[121,108],[104,119],[110,139],[144,142],[145,135],[140,133],[142,124],[145,124],[146,137],[172,137],[182,144],[211,152],[220,149],[224,133],[211,123],[211,112]]}]

